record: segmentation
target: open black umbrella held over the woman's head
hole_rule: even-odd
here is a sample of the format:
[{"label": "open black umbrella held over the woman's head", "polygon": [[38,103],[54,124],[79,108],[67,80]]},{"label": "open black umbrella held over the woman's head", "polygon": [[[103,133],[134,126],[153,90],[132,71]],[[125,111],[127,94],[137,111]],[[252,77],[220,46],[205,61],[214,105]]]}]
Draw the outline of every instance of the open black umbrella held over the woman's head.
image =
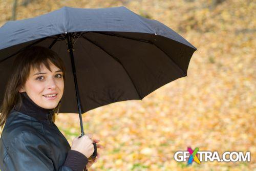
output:
[{"label": "open black umbrella held over the woman's head", "polygon": [[82,113],[117,101],[143,99],[185,77],[197,50],[157,20],[125,7],[63,7],[7,22],[0,28],[0,39],[1,92],[13,59],[25,48],[47,47],[62,58],[67,81],[60,113],[79,113],[81,135]]}]

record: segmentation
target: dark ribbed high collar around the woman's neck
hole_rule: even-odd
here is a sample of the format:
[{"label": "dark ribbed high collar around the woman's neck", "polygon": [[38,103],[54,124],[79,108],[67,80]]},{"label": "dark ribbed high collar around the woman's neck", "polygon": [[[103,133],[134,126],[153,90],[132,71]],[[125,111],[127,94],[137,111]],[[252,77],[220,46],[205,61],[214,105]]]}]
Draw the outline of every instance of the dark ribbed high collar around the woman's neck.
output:
[{"label": "dark ribbed high collar around the woman's neck", "polygon": [[14,109],[20,113],[32,116],[40,121],[50,120],[52,118],[54,109],[45,109],[38,106],[26,92],[20,93],[22,95],[22,105],[20,108],[14,106]]}]

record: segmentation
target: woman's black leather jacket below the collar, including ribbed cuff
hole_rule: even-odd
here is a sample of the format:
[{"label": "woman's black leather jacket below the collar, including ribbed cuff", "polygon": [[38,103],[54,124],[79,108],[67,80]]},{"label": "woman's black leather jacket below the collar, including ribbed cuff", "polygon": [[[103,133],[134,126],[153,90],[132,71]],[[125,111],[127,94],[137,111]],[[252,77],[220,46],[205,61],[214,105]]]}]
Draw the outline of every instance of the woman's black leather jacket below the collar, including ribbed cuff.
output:
[{"label": "woman's black leather jacket below the collar, including ribbed cuff", "polygon": [[81,153],[70,151],[67,139],[53,122],[14,109],[9,114],[0,139],[2,171],[83,170],[87,162]]}]

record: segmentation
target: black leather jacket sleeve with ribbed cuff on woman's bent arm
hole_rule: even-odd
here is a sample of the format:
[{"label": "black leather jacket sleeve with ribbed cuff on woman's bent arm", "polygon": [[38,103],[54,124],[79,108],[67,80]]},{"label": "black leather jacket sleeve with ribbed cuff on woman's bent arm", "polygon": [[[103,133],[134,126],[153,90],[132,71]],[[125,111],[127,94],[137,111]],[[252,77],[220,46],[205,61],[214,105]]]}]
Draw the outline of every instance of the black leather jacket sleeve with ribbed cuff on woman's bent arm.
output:
[{"label": "black leather jacket sleeve with ribbed cuff on woman's bent arm", "polygon": [[[76,157],[77,154],[80,156]],[[81,155],[77,151],[70,151],[65,163],[59,168],[54,168],[48,142],[33,132],[22,132],[14,137],[9,145],[4,163],[8,170],[82,171],[88,160],[81,160]],[[86,156],[83,157],[86,158]],[[71,164],[70,161],[74,163]],[[83,161],[82,165],[79,164],[81,161]]]}]

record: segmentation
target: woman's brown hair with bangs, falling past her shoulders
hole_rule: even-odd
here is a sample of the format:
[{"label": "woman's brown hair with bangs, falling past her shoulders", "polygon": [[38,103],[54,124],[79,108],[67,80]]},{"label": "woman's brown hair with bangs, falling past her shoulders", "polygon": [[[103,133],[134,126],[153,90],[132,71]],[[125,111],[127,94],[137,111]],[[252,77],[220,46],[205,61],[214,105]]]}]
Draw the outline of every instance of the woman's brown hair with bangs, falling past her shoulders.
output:
[{"label": "woman's brown hair with bangs, falling past her shoulders", "polygon": [[[61,58],[54,51],[40,46],[31,46],[18,53],[13,62],[11,77],[6,85],[6,91],[1,106],[0,126],[3,128],[9,113],[14,106],[20,107],[22,105],[22,96],[19,93],[30,74],[31,69],[38,69],[45,65],[48,70],[50,69],[50,62],[58,67],[63,72],[63,79],[65,81],[65,66]],[[58,111],[59,104],[54,109],[52,122],[55,121],[55,113]]]}]

